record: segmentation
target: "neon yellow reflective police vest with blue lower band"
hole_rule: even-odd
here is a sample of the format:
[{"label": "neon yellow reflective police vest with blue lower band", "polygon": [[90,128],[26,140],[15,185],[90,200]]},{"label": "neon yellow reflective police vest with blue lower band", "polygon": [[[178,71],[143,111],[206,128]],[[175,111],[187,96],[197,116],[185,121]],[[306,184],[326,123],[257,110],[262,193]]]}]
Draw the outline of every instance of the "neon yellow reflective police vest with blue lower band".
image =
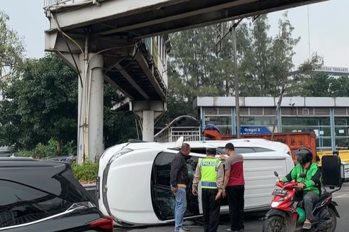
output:
[{"label": "neon yellow reflective police vest with blue lower band", "polygon": [[217,172],[222,162],[216,158],[206,158],[199,162],[202,189],[217,189]]}]

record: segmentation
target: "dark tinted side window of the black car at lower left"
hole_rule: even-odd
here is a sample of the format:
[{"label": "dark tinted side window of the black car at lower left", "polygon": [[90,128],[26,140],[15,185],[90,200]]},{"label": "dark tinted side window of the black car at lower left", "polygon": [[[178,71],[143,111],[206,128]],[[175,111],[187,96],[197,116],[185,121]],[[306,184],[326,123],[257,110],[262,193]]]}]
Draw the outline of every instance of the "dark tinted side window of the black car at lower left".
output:
[{"label": "dark tinted side window of the black car at lower left", "polygon": [[66,211],[72,204],[46,192],[0,180],[0,228],[38,221]]}]

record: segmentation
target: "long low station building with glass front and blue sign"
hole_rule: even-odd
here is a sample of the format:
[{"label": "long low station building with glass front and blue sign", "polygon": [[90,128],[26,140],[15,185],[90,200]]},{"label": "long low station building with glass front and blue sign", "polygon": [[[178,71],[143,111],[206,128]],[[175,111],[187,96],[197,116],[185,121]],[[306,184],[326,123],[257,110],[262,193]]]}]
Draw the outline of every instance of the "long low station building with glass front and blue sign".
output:
[{"label": "long low station building with glass front and blue sign", "polygon": [[[349,97],[240,97],[241,134],[271,132],[315,132],[316,147],[341,149],[349,141]],[[216,125],[221,134],[236,135],[234,97],[197,97],[193,102],[200,130]]]}]

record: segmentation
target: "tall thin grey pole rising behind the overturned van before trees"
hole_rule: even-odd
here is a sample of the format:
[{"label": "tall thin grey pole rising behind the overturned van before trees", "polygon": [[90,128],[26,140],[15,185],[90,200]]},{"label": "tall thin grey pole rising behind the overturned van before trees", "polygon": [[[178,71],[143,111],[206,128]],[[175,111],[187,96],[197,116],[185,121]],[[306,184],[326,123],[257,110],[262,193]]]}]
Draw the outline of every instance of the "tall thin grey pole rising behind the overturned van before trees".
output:
[{"label": "tall thin grey pole rising behind the overturned van before trees", "polygon": [[236,137],[239,139],[241,137],[240,131],[240,105],[239,105],[239,78],[237,75],[237,51],[236,51],[236,26],[238,23],[233,21],[233,50],[234,50],[234,81],[235,81],[235,120],[236,120]]}]

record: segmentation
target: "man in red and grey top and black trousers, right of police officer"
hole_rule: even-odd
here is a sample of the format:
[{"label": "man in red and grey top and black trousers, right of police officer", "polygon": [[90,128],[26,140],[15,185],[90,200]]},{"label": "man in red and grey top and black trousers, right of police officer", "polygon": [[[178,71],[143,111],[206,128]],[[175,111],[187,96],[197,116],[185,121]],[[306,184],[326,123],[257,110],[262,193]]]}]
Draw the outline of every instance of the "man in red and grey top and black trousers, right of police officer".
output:
[{"label": "man in red and grey top and black trousers, right of police officer", "polygon": [[225,174],[223,196],[228,196],[229,218],[231,227],[226,231],[244,231],[244,157],[235,153],[234,145],[229,142],[225,145],[228,158],[225,159]]}]

